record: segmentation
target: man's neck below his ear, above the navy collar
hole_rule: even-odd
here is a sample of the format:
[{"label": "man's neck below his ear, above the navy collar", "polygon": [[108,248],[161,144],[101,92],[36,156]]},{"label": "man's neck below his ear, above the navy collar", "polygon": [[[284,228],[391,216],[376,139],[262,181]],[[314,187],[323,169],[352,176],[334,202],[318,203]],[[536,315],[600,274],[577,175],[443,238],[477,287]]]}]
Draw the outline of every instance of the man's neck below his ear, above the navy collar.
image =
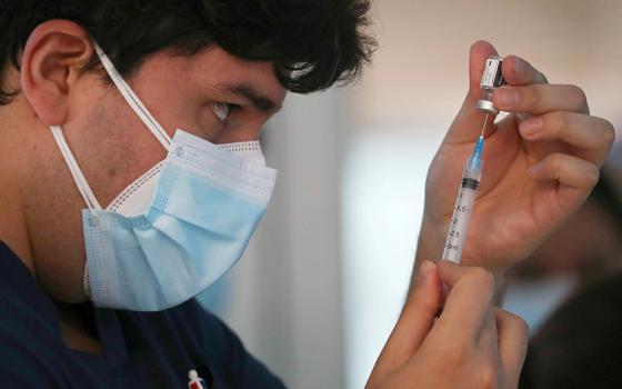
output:
[{"label": "man's neck below his ear, above the navy collar", "polygon": [[[54,170],[54,166],[59,168]],[[51,134],[41,127],[22,94],[18,94],[10,104],[0,106],[0,240],[24,263],[51,298],[64,296],[62,291],[67,286],[60,280],[77,279],[76,289],[81,286],[81,271],[77,271],[76,276],[63,268],[77,256],[72,250],[79,251],[79,257],[82,256],[83,248],[76,248],[77,245],[72,243],[80,239],[80,231],[72,235],[67,229],[51,228],[62,223],[56,216],[63,215],[58,212],[58,208],[63,209],[63,199],[68,197],[58,188],[71,184],[70,177],[64,178],[67,183],[59,183],[61,173],[68,176],[64,169]],[[48,212],[52,215],[48,217]],[[68,240],[69,243],[59,247],[61,240]],[[37,261],[38,258],[41,260],[54,256],[60,258],[57,266],[44,267]],[[57,273],[54,269],[60,270]],[[58,286],[50,280],[60,287],[54,289]],[[56,293],[50,292],[50,289],[56,290]],[[71,295],[68,300],[79,300],[76,295]],[[92,306],[58,300],[53,302],[68,347],[100,355],[101,345]]]}]

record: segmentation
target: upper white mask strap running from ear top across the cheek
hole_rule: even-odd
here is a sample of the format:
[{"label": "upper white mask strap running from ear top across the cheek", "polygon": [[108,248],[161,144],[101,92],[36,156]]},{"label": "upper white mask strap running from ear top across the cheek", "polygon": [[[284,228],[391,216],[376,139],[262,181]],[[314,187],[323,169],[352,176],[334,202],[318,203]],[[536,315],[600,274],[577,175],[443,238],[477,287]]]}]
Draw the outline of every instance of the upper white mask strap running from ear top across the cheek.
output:
[{"label": "upper white mask strap running from ear top across the cheek", "polygon": [[158,141],[162,143],[164,149],[168,151],[171,144],[171,137],[169,137],[169,134],[167,133],[164,128],[160,126],[158,120],[156,120],[156,118],[151,116],[147,107],[144,107],[132,88],[126,82],[126,80],[123,80],[119,71],[117,71],[117,68],[114,68],[114,64],[112,63],[110,58],[108,58],[108,56],[103,52],[99,44],[93,43],[93,46],[101,63],[103,64],[103,68],[108,72],[108,76],[110,76],[110,79],[112,79],[112,82],[114,82],[114,86],[117,86],[119,92],[121,92],[136,114],[138,114],[144,126],[147,126],[147,128],[151,131],[151,133],[153,133],[156,139],[158,139]]}]

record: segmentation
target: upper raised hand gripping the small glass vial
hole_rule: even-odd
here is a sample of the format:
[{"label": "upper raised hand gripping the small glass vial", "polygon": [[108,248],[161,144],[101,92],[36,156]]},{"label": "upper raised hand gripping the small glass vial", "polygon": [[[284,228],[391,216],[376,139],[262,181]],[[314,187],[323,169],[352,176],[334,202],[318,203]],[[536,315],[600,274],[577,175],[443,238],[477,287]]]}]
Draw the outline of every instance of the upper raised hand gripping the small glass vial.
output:
[{"label": "upper raised hand gripping the small glass vial", "polygon": [[[442,252],[464,163],[473,152],[485,113],[475,109],[488,42],[471,47],[470,91],[430,167],[418,257]],[[526,258],[573,215],[599,180],[614,140],[613,127],[589,114],[574,86],[549,84],[530,63],[508,57],[509,86],[494,92],[512,112],[485,131],[484,168],[462,253],[465,265],[503,273]]]}]

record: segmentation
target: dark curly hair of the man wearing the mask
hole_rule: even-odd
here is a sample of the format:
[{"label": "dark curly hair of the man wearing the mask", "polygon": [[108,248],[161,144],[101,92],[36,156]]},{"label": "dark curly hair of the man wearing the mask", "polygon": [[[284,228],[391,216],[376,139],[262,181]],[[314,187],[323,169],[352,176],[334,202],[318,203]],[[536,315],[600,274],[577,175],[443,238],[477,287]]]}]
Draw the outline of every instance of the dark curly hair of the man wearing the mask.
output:
[{"label": "dark curly hair of the man wearing the mask", "polygon": [[[217,43],[231,54],[270,61],[285,89],[310,93],[357,80],[375,41],[365,34],[370,0],[1,0],[0,70],[19,69],[42,22],[82,26],[123,76],[150,54],[192,56]],[[98,68],[93,57],[87,70]],[[19,91],[0,83],[0,104]]]}]

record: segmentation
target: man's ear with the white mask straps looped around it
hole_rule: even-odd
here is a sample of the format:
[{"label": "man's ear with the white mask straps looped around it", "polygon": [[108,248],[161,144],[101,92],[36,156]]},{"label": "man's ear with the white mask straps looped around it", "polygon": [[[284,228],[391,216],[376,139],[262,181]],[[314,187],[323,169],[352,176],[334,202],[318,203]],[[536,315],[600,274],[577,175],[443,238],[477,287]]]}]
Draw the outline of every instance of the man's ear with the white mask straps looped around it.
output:
[{"label": "man's ear with the white mask straps looped around it", "polygon": [[69,116],[81,69],[93,46],[87,31],[68,20],[39,24],[30,34],[21,58],[21,88],[39,119],[63,124]]}]

